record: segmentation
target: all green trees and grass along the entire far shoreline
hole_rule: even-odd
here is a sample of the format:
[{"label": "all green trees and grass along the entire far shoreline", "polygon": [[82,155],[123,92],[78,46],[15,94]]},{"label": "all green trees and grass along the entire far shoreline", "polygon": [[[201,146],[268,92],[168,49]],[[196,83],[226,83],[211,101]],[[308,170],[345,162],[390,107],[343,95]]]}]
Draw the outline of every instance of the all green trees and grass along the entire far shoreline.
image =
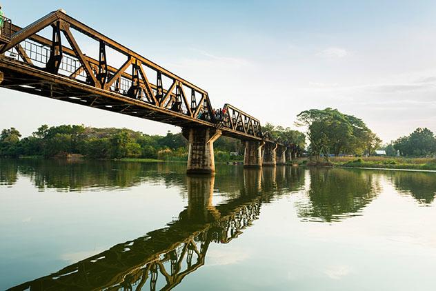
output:
[{"label": "all green trees and grass along the entire far shoreline", "polygon": [[[303,111],[295,125],[306,128],[306,134],[270,123],[262,126],[264,137],[288,145],[288,154],[293,157],[290,165],[436,170],[436,137],[428,128],[417,128],[381,145],[381,139],[364,121],[337,109]],[[240,164],[244,145],[238,139],[220,137],[214,142],[214,156],[215,163]],[[163,136],[127,128],[43,125],[23,138],[15,128],[3,129],[0,157],[186,163],[188,142],[181,133]]]}]

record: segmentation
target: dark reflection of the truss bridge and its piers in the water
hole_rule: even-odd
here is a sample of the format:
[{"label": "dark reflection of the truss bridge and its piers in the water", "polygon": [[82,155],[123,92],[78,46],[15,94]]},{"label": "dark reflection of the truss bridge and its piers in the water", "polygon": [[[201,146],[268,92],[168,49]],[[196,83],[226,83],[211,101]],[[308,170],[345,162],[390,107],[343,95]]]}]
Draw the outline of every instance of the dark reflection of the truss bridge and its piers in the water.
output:
[{"label": "dark reflection of the truss bridge and its piers in the water", "polygon": [[237,238],[259,217],[261,204],[277,194],[277,185],[284,184],[286,178],[292,181],[286,177],[292,175],[292,169],[277,169],[280,177],[274,168],[244,169],[239,193],[215,206],[212,194],[219,176],[186,177],[188,207],[168,227],[11,290],[140,290],[147,285],[151,290],[169,290],[204,265],[210,243],[229,243]]}]

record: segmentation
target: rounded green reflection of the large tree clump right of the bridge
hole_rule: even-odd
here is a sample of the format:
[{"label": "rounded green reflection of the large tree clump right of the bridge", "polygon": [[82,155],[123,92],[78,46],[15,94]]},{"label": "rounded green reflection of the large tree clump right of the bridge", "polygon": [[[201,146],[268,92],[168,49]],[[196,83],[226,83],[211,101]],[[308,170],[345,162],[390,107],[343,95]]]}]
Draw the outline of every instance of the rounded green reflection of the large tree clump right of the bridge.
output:
[{"label": "rounded green reflection of the large tree clump right of the bridge", "polygon": [[308,202],[297,203],[301,217],[309,221],[340,221],[361,212],[380,192],[372,172],[312,168]]}]

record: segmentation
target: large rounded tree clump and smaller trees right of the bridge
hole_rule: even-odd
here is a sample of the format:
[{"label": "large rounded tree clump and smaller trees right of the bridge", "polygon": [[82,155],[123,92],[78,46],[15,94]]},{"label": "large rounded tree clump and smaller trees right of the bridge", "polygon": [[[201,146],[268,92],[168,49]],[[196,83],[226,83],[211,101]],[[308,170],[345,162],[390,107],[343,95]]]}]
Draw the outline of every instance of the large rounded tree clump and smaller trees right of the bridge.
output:
[{"label": "large rounded tree clump and smaller trees right of the bridge", "polygon": [[337,109],[305,110],[297,115],[297,126],[307,128],[310,143],[306,150],[318,159],[341,154],[372,155],[375,150],[385,150],[390,157],[433,157],[436,154],[436,137],[428,128],[417,128],[408,136],[382,145],[381,139],[364,121]]}]

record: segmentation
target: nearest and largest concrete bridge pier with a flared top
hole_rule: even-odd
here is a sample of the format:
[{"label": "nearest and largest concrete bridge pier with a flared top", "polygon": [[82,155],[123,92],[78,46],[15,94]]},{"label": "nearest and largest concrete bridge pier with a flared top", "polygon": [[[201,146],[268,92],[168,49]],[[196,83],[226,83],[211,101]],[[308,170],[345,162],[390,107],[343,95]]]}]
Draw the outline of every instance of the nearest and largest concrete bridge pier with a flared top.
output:
[{"label": "nearest and largest concrete bridge pier with a flared top", "polygon": [[182,134],[189,142],[188,168],[186,173],[215,173],[213,143],[221,137],[221,130],[206,127],[183,128]]}]

